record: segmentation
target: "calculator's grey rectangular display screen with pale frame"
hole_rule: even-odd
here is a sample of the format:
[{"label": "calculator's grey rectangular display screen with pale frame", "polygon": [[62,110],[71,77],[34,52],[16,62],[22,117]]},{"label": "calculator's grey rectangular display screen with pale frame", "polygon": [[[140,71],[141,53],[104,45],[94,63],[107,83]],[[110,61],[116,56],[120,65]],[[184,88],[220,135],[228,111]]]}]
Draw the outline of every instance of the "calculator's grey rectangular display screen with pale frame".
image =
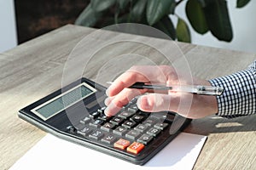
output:
[{"label": "calculator's grey rectangular display screen with pale frame", "polygon": [[94,94],[95,88],[90,87],[85,82],[79,84],[79,86],[68,90],[67,92],[56,96],[54,99],[50,99],[42,105],[32,109],[32,112],[42,118],[44,121],[50,117],[64,111],[67,107],[74,105],[82,99]]}]

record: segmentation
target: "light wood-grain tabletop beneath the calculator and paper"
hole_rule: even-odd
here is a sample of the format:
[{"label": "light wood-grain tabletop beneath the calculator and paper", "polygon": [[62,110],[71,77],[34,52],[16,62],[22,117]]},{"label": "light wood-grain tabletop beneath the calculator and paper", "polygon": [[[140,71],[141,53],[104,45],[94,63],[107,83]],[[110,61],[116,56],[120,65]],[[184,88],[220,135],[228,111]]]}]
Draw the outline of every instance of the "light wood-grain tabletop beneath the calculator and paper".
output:
[{"label": "light wood-grain tabletop beneath the calculator and paper", "polygon": [[[152,37],[127,37],[106,31],[102,31],[104,36],[99,36],[101,33],[91,36],[94,31],[91,28],[67,25],[0,54],[0,169],[11,167],[45,135],[37,127],[20,120],[17,112],[61,88],[62,77],[68,82],[81,76],[81,71],[75,70],[76,65],[85,65],[84,61],[87,63],[82,70],[83,76],[104,83],[134,64],[166,64],[162,54],[140,42],[154,42],[156,48],[172,55],[167,59],[167,64],[171,60],[177,68],[183,68],[185,56],[191,74],[207,79],[245,69],[256,59],[255,54],[182,42],[170,46],[171,41]],[[85,35],[90,36],[85,37],[86,46],[81,46],[80,41]],[[131,38],[135,42],[122,42],[123,38]],[[112,39],[120,41],[105,44],[104,47],[104,42]],[[95,42],[102,42],[101,49],[93,58],[87,59],[84,56],[86,59],[81,59],[90,49],[96,49]],[[119,56],[122,56],[121,59]],[[124,59],[128,60],[122,62]],[[70,66],[74,70],[72,74],[68,73]],[[256,169],[255,122],[256,115],[236,119],[209,116],[191,122],[185,132],[208,136],[194,168]]]}]

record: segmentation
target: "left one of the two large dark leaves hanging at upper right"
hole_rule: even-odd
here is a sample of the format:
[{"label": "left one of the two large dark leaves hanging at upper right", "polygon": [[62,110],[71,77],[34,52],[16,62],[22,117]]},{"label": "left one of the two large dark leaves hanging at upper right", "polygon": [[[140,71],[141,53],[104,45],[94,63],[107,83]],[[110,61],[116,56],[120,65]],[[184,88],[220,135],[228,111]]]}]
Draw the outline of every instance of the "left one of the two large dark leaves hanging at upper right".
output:
[{"label": "left one of the two large dark leaves hanging at upper right", "polygon": [[187,2],[186,14],[195,31],[205,34],[209,30],[203,8],[198,0],[189,0]]}]

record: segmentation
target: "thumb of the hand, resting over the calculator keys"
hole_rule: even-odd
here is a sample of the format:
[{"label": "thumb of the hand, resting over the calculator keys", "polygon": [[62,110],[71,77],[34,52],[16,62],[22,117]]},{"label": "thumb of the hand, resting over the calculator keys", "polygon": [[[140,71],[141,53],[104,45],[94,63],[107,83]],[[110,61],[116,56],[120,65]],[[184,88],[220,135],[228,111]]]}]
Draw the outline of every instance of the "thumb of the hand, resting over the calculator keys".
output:
[{"label": "thumb of the hand, resting over the calculator keys", "polygon": [[169,94],[147,94],[137,99],[138,108],[147,112],[177,111],[178,104],[179,99]]}]

